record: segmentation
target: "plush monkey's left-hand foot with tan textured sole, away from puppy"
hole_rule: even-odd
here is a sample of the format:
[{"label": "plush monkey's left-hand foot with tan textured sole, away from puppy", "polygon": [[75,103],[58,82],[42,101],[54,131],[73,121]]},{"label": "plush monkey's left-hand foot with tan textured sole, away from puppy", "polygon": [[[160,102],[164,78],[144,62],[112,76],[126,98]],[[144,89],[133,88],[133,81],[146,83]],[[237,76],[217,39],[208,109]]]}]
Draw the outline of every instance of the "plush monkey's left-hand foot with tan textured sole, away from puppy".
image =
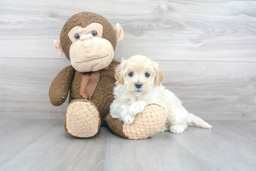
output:
[{"label": "plush monkey's left-hand foot with tan textured sole, away from puppy", "polygon": [[98,133],[101,119],[97,107],[88,100],[73,100],[67,107],[63,126],[71,135],[81,138]]}]

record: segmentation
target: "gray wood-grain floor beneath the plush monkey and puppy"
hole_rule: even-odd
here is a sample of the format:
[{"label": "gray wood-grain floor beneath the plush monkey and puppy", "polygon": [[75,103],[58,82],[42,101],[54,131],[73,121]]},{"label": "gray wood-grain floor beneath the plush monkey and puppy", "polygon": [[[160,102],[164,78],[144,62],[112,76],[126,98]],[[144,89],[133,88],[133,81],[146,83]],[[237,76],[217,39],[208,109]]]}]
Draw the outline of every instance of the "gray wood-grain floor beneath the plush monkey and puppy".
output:
[{"label": "gray wood-grain floor beneath the plush monkey and puppy", "polygon": [[1,119],[0,170],[255,170],[256,121],[208,122],[128,140],[105,127],[80,139],[62,120]]}]

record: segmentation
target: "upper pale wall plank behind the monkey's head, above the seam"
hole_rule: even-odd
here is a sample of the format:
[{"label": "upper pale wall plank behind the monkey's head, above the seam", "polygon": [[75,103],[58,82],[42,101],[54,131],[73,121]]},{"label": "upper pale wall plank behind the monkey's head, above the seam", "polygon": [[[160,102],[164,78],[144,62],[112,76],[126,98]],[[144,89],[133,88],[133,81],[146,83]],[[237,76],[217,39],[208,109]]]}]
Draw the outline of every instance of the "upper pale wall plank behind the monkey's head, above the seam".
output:
[{"label": "upper pale wall plank behind the monkey's head, above the seam", "polygon": [[123,27],[117,59],[255,62],[255,9],[255,1],[1,1],[0,57],[63,58],[53,40],[69,17],[91,11]]}]

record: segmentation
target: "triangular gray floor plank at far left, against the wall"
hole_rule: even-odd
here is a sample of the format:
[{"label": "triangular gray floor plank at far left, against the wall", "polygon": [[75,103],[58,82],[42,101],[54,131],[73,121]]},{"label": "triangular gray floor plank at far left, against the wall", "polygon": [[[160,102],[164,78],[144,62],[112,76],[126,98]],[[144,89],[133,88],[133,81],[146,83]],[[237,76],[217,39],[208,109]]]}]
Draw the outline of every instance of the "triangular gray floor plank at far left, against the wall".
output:
[{"label": "triangular gray floor plank at far left, against the wall", "polygon": [[[1,120],[8,121],[4,118]],[[0,167],[60,122],[62,121],[13,119],[13,122],[1,124]]]}]

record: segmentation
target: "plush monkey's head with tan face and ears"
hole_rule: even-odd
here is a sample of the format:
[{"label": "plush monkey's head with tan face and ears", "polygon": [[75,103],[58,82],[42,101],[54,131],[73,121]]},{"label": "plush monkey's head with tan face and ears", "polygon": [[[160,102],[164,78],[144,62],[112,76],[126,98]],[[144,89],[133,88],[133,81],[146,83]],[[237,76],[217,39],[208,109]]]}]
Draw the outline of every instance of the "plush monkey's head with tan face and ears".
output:
[{"label": "plush monkey's head with tan face and ears", "polygon": [[80,12],[67,20],[55,49],[80,72],[106,68],[114,57],[116,43],[123,40],[120,24],[112,27],[106,18],[92,12]]}]

